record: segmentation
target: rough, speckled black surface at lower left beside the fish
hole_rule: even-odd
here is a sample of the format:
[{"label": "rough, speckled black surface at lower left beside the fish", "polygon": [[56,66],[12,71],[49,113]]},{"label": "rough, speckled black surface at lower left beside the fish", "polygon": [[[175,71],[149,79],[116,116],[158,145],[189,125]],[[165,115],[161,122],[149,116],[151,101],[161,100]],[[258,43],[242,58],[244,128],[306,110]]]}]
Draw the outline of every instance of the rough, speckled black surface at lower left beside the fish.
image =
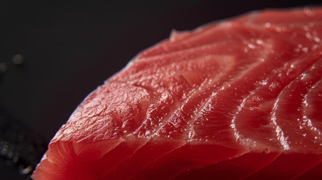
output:
[{"label": "rough, speckled black surface at lower left beside the fish", "polygon": [[[34,167],[46,150],[42,138],[0,109],[0,175],[30,179]],[[7,176],[8,175],[8,176]],[[9,176],[10,175],[10,176]],[[0,176],[0,179],[3,179]]]}]

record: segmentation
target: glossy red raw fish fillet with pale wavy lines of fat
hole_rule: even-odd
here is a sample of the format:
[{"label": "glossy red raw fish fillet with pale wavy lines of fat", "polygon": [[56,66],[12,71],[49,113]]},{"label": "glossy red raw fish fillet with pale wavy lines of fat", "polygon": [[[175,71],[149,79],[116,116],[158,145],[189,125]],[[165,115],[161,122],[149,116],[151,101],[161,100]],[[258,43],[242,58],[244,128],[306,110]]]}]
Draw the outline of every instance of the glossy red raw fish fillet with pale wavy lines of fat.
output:
[{"label": "glossy red raw fish fillet with pale wavy lines of fat", "polygon": [[322,8],[264,10],[139,53],[32,177],[322,179]]}]

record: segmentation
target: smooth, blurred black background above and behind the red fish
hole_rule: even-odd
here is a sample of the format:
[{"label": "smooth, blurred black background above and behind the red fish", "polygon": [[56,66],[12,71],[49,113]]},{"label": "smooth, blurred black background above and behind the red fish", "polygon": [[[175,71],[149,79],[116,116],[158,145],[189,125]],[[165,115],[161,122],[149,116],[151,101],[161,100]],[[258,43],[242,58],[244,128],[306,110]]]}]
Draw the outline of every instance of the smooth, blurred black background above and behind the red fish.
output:
[{"label": "smooth, blurred black background above and behind the red fish", "polygon": [[[318,1],[0,1],[0,108],[46,144],[82,101],[172,29]],[[314,5],[313,5],[314,6]],[[24,64],[15,66],[15,54]],[[0,179],[24,179],[0,159]]]}]

